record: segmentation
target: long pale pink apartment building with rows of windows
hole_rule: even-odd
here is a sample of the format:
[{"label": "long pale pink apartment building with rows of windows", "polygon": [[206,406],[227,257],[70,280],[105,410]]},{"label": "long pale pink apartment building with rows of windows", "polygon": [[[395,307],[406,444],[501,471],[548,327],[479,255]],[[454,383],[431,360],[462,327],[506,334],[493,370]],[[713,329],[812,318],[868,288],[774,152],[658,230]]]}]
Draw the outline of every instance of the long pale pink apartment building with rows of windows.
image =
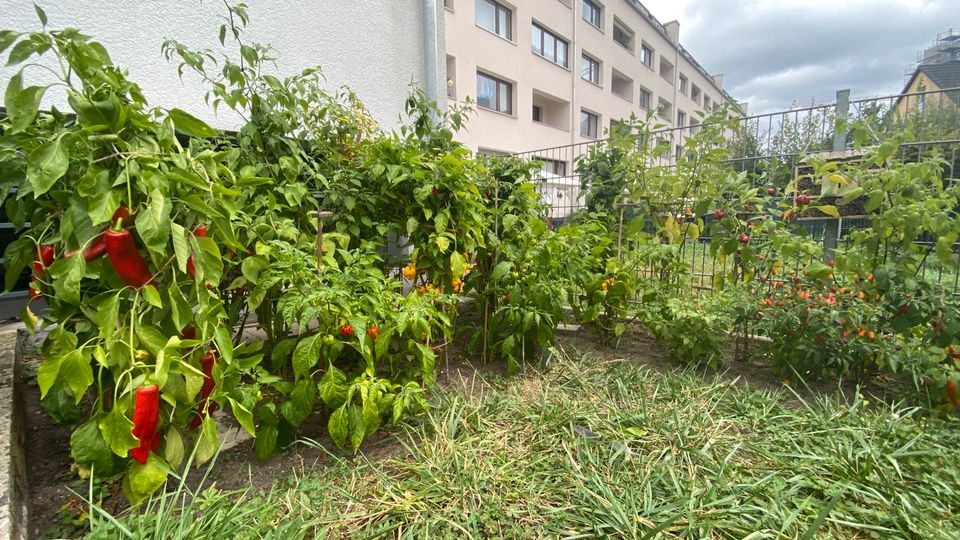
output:
[{"label": "long pale pink apartment building with rows of windows", "polygon": [[[631,114],[696,125],[732,98],[636,0],[445,0],[447,96],[476,115],[460,140],[480,153],[602,138]],[[695,128],[694,128],[695,129]],[[566,174],[570,163],[550,164]]]}]

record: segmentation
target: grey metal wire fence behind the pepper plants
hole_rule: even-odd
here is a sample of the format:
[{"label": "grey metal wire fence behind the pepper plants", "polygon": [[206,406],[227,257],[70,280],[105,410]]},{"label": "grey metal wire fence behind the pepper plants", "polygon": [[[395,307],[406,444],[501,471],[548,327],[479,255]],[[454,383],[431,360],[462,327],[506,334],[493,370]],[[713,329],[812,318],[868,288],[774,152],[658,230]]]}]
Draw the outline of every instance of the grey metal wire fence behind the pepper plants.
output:
[{"label": "grey metal wire fence behind the pepper plants", "polygon": [[[960,88],[856,100],[849,99],[848,91],[840,91],[835,103],[739,118],[736,128],[726,133],[728,154],[723,163],[738,171],[753,173],[751,177],[757,182],[761,179],[769,181],[769,171],[775,167],[793,179],[802,174],[806,156],[855,157],[857,154],[850,151],[854,147],[851,129],[854,125],[868,145],[907,133],[908,139],[899,148],[901,160],[912,161],[936,153],[946,162],[945,179],[952,182],[957,178]],[[638,139],[637,144],[671,148],[670,152],[648,153],[648,165],[670,166],[681,157],[686,138],[701,128],[701,125],[688,125],[655,129],[649,136]],[[603,149],[608,142],[609,139],[602,139],[515,154],[542,164],[539,190],[548,207],[550,226],[569,223],[578,212],[586,209],[585,195],[589,186],[583,181],[579,164],[592,150]],[[810,187],[817,189],[816,186]],[[797,223],[810,238],[841,249],[848,245],[852,231],[870,226],[862,211],[839,218],[801,217]],[[720,262],[710,253],[710,240],[709,236],[700,236],[696,240],[686,240],[682,246],[684,260],[690,268],[690,286],[697,291],[714,290],[718,276],[733,275],[733,259]],[[929,242],[917,244],[925,248],[930,245]],[[960,244],[954,246],[953,252],[953,264],[924,260],[918,273],[941,283],[953,294],[960,294]],[[800,261],[796,263],[799,268]],[[655,268],[641,270],[641,274],[647,277],[656,272]]]}]

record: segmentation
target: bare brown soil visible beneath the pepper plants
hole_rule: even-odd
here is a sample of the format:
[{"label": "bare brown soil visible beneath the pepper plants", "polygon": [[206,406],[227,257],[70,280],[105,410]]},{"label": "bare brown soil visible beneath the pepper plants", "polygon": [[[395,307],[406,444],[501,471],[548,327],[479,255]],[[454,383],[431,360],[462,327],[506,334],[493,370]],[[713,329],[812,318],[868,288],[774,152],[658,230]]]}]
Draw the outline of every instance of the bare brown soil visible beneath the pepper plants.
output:
[{"label": "bare brown soil visible beneath the pepper plants", "polygon": [[[469,312],[462,317],[477,318]],[[437,379],[437,392],[456,392],[482,398],[502,386],[502,381],[508,380],[505,378],[507,366],[503,362],[482,365],[475,358],[469,358],[463,353],[464,337],[460,336],[455,341],[449,362],[442,366]],[[556,349],[560,354],[587,355],[597,361],[624,359],[632,366],[651,369],[662,375],[678,371],[677,364],[668,360],[667,349],[645,329],[637,326],[623,335],[616,349],[598,345],[595,336],[584,330],[558,334]],[[71,427],[57,424],[40,408],[34,379],[39,360],[35,351],[24,360],[24,371],[29,374],[25,381],[25,424],[29,449],[27,459],[32,532],[37,537],[72,536],[87,526],[89,508],[83,497],[88,493],[89,482],[79,479],[72,467],[69,450]],[[731,356],[720,370],[702,368],[689,371],[701,377],[705,384],[718,379],[751,390],[778,391],[785,388],[783,379],[774,375],[769,362],[762,358],[736,361]],[[533,395],[534,382],[532,379],[525,381],[527,391]],[[861,393],[882,402],[885,397],[896,395],[898,384],[890,379],[874,379],[869,386],[861,389]],[[803,408],[804,400],[810,398],[828,397],[844,402],[857,399],[857,386],[852,381],[810,381],[795,387],[794,391],[781,395],[783,404]],[[229,422],[224,416],[219,418],[221,423]],[[225,491],[252,489],[254,492],[267,492],[278,480],[315,474],[331,462],[350,460],[352,454],[338,450],[326,433],[325,420],[316,414],[311,416],[298,430],[299,437],[305,441],[294,444],[264,462],[257,460],[249,442],[223,451],[217,457],[216,466],[209,472],[206,485],[215,484]],[[417,425],[422,421],[414,419],[413,423]],[[397,457],[403,453],[400,438],[401,431],[397,429],[376,434],[360,448],[361,459],[379,462]],[[206,467],[203,472],[206,472]],[[194,472],[192,475],[188,484],[196,487],[200,484],[202,473]],[[168,489],[175,488],[175,482],[168,485]],[[112,514],[127,508],[119,482],[114,482],[101,496],[105,497],[103,508]]]}]

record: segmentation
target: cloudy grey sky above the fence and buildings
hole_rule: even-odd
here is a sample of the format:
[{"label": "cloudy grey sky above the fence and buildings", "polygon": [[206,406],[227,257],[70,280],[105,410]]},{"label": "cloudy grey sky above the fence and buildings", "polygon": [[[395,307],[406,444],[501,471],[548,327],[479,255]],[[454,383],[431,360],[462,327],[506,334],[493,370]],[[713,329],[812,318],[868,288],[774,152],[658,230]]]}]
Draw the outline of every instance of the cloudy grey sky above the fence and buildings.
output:
[{"label": "cloudy grey sky above the fence and buildings", "polygon": [[641,0],[680,21],[680,42],[750,113],[896,94],[936,35],[960,30],[960,0]]}]

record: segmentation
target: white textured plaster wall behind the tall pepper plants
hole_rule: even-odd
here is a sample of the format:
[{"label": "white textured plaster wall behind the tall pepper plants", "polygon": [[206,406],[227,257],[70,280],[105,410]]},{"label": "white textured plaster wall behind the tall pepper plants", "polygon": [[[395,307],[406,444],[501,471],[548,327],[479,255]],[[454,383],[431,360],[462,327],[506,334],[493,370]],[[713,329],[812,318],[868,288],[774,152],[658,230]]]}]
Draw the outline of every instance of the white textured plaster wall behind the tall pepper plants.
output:
[{"label": "white textured plaster wall behind the tall pepper plants", "polygon": [[[217,34],[227,13],[222,2],[37,2],[51,28],[79,28],[102,42],[114,63],[129,69],[131,80],[140,85],[150,105],[180,107],[223,129],[238,127],[239,119],[229,111],[214,116],[203,101],[206,87],[186,72],[181,82],[177,64],[167,62],[160,51],[166,38],[193,48],[219,48]],[[328,90],[349,86],[385,127],[396,125],[409,83],[423,85],[422,0],[247,0],[247,4],[250,24],[242,37],[275,48],[277,75],[320,65]],[[0,29],[38,28],[30,0],[0,0]],[[0,60],[0,65],[6,64],[6,54]],[[14,73],[0,68],[0,92]],[[37,84],[43,77],[42,70],[30,69],[24,83]],[[65,106],[62,92],[51,92],[45,99],[43,107],[51,105]]]}]

